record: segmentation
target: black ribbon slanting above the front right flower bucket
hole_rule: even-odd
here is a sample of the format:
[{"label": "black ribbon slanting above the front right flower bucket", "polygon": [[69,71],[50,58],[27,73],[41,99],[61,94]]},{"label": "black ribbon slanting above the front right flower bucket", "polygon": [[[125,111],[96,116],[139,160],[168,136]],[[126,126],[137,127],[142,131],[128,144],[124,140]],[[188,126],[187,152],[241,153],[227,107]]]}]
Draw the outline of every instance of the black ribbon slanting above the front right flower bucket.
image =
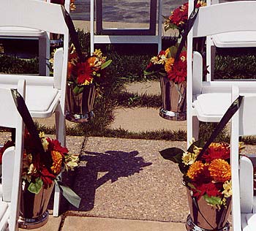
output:
[{"label": "black ribbon slanting above the front right flower bucket", "polygon": [[207,140],[206,144],[203,146],[202,151],[200,151],[200,154],[197,156],[197,159],[200,159],[203,154],[205,153],[208,146],[214,142],[217,135],[219,135],[219,132],[222,131],[222,129],[225,127],[225,125],[230,121],[230,118],[236,113],[236,111],[239,109],[242,100],[244,99],[244,96],[238,96],[238,98],[230,105],[230,107],[227,109],[226,113],[222,117],[222,119],[219,121],[219,124],[214,129],[214,132],[211,134],[211,137]]}]

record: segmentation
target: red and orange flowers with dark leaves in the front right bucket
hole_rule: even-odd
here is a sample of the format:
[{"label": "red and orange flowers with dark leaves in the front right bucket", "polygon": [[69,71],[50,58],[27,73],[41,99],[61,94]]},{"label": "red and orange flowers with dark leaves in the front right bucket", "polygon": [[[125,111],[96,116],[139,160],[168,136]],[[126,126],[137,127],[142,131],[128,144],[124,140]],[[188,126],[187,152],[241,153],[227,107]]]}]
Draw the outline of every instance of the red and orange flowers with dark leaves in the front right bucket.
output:
[{"label": "red and orange flowers with dark leaves in the front right bucket", "polygon": [[[240,145],[239,148],[241,150],[244,146]],[[196,141],[187,151],[167,148],[160,151],[160,154],[164,159],[178,164],[185,185],[197,201],[203,197],[208,205],[219,210],[232,195],[230,145],[211,143],[200,155],[202,149],[203,142]]]}]

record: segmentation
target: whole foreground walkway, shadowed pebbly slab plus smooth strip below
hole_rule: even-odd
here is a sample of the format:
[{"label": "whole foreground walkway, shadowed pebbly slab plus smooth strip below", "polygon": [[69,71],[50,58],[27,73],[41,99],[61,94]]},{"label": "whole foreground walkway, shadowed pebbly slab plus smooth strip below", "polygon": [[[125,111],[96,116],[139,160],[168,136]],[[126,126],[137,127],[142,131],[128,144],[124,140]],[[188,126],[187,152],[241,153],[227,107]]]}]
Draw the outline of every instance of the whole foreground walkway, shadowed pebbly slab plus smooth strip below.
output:
[{"label": "whole foreground walkway, shadowed pebbly slab plus smooth strip below", "polygon": [[189,209],[182,175],[159,155],[173,146],[185,149],[186,142],[67,137],[69,152],[80,154],[81,162],[64,182],[80,195],[80,208],[61,200],[61,215],[50,215],[37,230],[185,231]]}]

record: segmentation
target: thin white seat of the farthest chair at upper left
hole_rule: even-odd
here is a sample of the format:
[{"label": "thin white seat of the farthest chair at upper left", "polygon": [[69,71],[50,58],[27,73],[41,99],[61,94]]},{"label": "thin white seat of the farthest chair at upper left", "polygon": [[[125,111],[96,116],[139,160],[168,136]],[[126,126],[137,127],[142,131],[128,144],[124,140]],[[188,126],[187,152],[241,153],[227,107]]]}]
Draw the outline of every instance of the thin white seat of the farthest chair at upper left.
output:
[{"label": "thin white seat of the farthest chair at upper left", "polygon": [[17,37],[42,37],[45,31],[31,29],[26,27],[2,26],[0,28],[0,37],[17,36]]}]

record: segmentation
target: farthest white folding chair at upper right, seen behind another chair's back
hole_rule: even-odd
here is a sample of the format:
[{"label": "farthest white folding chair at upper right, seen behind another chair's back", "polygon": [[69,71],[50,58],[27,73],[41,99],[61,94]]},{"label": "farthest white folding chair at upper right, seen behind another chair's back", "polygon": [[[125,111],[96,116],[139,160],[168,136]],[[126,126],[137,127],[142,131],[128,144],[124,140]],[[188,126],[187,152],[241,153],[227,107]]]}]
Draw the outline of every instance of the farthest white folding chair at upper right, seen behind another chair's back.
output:
[{"label": "farthest white folding chair at upper right, seen behind another chair's back", "polygon": [[[232,1],[232,0],[227,0]],[[236,1],[236,0],[233,0]],[[219,0],[207,0],[207,5],[219,4]],[[216,48],[249,48],[256,47],[256,31],[233,31],[214,34],[206,40],[206,65],[208,80],[214,78]]]}]

